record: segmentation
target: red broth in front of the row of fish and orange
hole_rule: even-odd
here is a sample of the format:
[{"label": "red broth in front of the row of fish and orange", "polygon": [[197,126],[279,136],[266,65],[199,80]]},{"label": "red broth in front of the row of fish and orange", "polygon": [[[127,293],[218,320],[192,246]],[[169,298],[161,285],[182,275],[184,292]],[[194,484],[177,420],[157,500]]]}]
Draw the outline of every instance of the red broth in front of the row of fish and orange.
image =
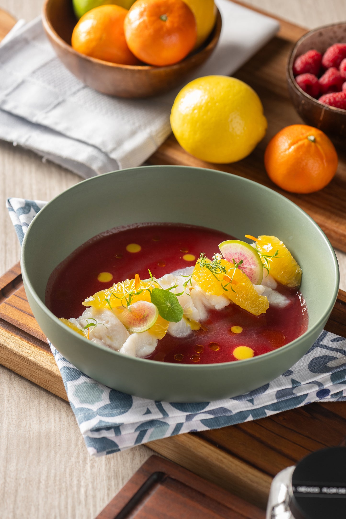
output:
[{"label": "red broth in front of the row of fish and orange", "polygon": [[[148,359],[178,364],[213,364],[237,360],[232,354],[237,346],[252,348],[255,357],[284,346],[306,332],[308,314],[298,290],[282,285],[278,285],[277,290],[290,300],[286,308],[270,306],[260,316],[232,303],[222,310],[210,310],[209,318],[203,322],[204,330],[184,338],[167,333]],[[232,326],[241,326],[243,331],[233,333]]]}]

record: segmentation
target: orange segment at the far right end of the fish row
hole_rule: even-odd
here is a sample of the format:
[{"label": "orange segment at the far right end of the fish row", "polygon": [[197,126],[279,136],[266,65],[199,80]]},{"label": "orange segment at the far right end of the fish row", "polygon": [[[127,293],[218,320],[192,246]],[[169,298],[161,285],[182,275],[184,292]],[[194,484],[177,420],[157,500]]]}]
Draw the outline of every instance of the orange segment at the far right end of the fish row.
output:
[{"label": "orange segment at the far right end of the fish row", "polygon": [[[276,251],[278,255],[270,261],[269,270],[272,277],[278,283],[296,288],[301,283],[302,270],[298,263],[286,248],[284,243],[275,236],[259,236],[256,241],[257,250],[261,255],[273,256]],[[262,263],[266,265],[265,258],[261,256]]]}]

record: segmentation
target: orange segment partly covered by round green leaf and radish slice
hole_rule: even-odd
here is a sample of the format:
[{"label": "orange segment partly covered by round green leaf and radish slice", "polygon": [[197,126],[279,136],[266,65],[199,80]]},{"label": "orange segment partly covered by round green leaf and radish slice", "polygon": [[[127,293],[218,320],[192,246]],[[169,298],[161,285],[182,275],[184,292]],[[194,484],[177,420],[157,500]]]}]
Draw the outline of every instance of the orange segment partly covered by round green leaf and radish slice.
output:
[{"label": "orange segment partly covered by round green leaf and radish slice", "polygon": [[[94,308],[108,308],[112,307],[112,311],[118,316],[121,312],[122,305],[126,305],[125,296],[127,296],[127,292],[137,292],[142,289],[151,288],[151,284],[149,281],[142,281],[139,278],[135,279],[127,279],[126,281],[114,283],[114,285],[106,290],[100,290],[100,292],[96,292],[96,294],[88,297],[83,302],[84,306],[93,306]],[[128,297],[128,296],[127,296]],[[109,304],[106,299],[108,299]],[[135,295],[133,294],[131,303],[136,303],[137,301],[147,301],[150,303],[150,292],[148,290],[143,290],[141,294]],[[154,335],[157,339],[162,339],[165,336],[168,330],[169,321],[166,321],[161,316],[158,316],[156,323],[149,328],[148,332],[151,335]]]}]

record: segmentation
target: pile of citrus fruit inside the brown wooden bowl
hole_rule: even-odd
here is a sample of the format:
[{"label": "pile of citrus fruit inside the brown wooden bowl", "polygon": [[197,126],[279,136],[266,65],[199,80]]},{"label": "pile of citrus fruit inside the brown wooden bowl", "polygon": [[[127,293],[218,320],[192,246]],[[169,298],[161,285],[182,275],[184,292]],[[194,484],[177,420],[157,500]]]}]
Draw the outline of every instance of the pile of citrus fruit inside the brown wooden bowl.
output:
[{"label": "pile of citrus fruit inside the brown wooden bowl", "polygon": [[214,0],[74,0],[74,10],[72,47],[123,65],[178,63],[205,41],[216,19]]}]

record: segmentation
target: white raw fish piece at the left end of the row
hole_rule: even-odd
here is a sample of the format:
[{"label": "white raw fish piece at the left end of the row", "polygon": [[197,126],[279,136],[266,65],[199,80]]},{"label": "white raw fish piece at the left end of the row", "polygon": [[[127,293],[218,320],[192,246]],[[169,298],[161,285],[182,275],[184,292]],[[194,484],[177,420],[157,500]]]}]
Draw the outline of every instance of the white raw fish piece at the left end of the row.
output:
[{"label": "white raw fish piece at the left end of the row", "polygon": [[104,346],[108,346],[112,350],[120,350],[130,334],[114,313],[106,308],[98,310],[89,307],[76,322],[83,328],[95,321],[98,325],[89,327],[90,340],[98,344],[101,341]]}]

